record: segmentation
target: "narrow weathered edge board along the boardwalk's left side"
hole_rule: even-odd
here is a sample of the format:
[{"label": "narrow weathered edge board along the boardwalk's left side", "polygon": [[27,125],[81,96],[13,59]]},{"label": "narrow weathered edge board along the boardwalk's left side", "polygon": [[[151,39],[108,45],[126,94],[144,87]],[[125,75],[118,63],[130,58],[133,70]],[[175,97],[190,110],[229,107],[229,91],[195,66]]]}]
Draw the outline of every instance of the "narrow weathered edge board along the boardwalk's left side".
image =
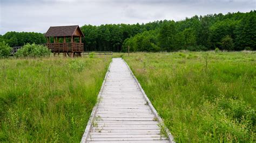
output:
[{"label": "narrow weathered edge board along the boardwalk's left side", "polygon": [[109,68],[107,68],[107,73],[106,73],[106,75],[105,75],[105,77],[104,77],[104,80],[103,80],[103,82],[102,82],[102,87],[101,87],[100,90],[99,90],[99,94],[98,94],[98,98],[97,98],[97,103],[96,103],[96,105],[95,105],[95,106],[93,107],[93,109],[92,109],[91,116],[90,116],[89,121],[88,121],[88,123],[87,123],[87,125],[86,125],[86,128],[85,128],[85,130],[84,130],[83,137],[82,137],[82,139],[81,139],[81,141],[80,141],[81,143],[82,143],[82,142],[86,142],[86,139],[87,139],[87,137],[88,137],[88,134],[89,134],[89,132],[90,132],[90,130],[91,130],[92,121],[93,121],[93,119],[95,118],[95,115],[96,115],[96,111],[97,111],[97,108],[98,108],[98,104],[99,104],[99,101],[100,101],[100,97],[102,96],[102,92],[103,92],[103,89],[104,89],[104,87],[105,87],[105,81],[106,81],[107,75],[109,74],[109,71],[110,71],[111,63],[112,63],[112,61],[110,62]]}]

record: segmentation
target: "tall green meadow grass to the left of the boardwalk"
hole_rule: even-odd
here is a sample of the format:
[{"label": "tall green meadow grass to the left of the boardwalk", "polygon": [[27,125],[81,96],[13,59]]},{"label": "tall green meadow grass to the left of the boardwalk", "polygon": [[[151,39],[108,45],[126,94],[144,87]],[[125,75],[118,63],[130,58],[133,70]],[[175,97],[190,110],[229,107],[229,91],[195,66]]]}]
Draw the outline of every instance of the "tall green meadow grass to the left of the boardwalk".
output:
[{"label": "tall green meadow grass to the left of the boardwalk", "polygon": [[110,61],[0,60],[0,142],[80,142]]}]

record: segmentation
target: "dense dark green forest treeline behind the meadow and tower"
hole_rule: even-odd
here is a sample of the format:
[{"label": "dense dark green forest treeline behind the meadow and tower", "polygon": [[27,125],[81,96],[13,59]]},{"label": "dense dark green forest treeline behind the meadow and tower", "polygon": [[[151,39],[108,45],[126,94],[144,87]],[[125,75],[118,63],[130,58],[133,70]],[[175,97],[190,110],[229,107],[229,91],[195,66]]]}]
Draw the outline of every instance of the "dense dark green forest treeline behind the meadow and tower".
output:
[{"label": "dense dark green forest treeline behind the meadow and tower", "polygon": [[[146,24],[105,24],[80,27],[85,51],[228,51],[256,50],[256,11],[194,16],[178,22],[160,20]],[[7,32],[0,42],[10,46],[46,42],[42,33]]]}]

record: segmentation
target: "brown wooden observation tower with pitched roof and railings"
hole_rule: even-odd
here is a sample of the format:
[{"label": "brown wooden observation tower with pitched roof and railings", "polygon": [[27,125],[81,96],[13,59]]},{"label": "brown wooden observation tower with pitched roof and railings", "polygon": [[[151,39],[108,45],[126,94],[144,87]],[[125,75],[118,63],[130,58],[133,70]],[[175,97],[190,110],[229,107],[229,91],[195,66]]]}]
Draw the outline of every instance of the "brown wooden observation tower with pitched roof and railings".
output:
[{"label": "brown wooden observation tower with pitched roof and railings", "polygon": [[[54,55],[63,53],[63,56],[81,56],[84,51],[82,43],[83,32],[78,25],[72,26],[51,26],[45,33],[47,38],[46,46],[51,49]],[[52,42],[53,38],[53,42]]]}]

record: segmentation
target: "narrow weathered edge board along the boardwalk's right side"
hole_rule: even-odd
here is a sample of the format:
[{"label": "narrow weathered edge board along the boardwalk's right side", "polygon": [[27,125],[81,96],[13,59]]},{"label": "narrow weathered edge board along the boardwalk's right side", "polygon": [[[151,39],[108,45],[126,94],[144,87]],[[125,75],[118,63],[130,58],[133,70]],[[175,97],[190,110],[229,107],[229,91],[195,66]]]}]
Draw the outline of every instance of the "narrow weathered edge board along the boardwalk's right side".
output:
[{"label": "narrow weathered edge board along the boardwalk's right side", "polygon": [[[122,60],[125,62],[125,60],[124,60],[123,58],[122,58]],[[159,121],[159,123],[160,123],[161,125],[164,125],[163,119],[161,119],[161,117],[158,115],[157,110],[154,109],[154,106],[153,106],[152,103],[150,102],[149,98],[147,97],[145,91],[143,90],[143,88],[142,88],[142,86],[140,85],[139,81],[137,80],[136,76],[134,76],[134,74],[133,74],[131,68],[129,67],[129,65],[128,65],[126,62],[125,62],[125,64],[126,64],[126,66],[128,67],[128,69],[130,70],[130,73],[132,74],[133,78],[136,80],[136,82],[137,82],[137,84],[138,84],[138,86],[139,86],[139,89],[140,89],[140,91],[142,91],[143,97],[146,99],[146,101],[147,101],[148,105],[150,106],[150,109],[152,110],[154,116],[156,116],[156,118],[158,119],[158,121]],[[173,138],[173,136],[172,136],[172,134],[171,134],[171,132],[169,131],[169,129],[168,129],[166,126],[164,126],[164,130],[165,130],[165,132],[167,133],[170,142],[175,142],[175,141],[174,141],[174,138]]]}]

